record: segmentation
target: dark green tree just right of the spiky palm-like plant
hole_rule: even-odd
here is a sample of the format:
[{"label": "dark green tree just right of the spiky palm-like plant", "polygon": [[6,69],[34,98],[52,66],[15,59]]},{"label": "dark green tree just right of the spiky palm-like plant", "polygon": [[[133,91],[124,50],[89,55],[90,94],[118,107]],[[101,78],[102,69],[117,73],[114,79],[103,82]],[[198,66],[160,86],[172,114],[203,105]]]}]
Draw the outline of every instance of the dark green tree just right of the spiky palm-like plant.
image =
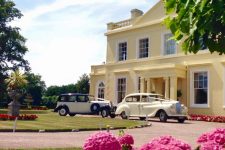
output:
[{"label": "dark green tree just right of the spiky palm-like plant", "polygon": [[41,80],[40,75],[35,75],[34,73],[27,72],[25,73],[26,79],[28,81],[26,91],[31,95],[34,105],[40,105],[42,95],[45,91],[46,85],[45,82]]}]

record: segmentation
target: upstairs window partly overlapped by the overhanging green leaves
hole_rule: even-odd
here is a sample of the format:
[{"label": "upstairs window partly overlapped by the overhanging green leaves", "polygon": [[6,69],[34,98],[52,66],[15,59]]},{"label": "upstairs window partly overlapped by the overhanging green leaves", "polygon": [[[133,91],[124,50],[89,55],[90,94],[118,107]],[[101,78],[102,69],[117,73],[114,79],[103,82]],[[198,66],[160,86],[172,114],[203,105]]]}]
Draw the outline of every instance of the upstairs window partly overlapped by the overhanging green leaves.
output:
[{"label": "upstairs window partly overlapped by the overhanging green leaves", "polygon": [[164,55],[176,53],[176,42],[170,39],[172,36],[172,33],[164,34]]}]

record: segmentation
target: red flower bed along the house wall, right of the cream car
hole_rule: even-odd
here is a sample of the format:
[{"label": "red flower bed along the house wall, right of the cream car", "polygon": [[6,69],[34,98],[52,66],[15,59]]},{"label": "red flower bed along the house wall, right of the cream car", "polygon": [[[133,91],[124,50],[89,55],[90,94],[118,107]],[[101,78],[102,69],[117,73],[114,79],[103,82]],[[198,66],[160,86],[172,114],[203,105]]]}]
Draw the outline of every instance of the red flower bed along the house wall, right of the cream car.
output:
[{"label": "red flower bed along the house wall, right of the cream car", "polygon": [[190,116],[189,120],[225,123],[225,116],[208,116],[196,114],[190,114],[189,116]]}]

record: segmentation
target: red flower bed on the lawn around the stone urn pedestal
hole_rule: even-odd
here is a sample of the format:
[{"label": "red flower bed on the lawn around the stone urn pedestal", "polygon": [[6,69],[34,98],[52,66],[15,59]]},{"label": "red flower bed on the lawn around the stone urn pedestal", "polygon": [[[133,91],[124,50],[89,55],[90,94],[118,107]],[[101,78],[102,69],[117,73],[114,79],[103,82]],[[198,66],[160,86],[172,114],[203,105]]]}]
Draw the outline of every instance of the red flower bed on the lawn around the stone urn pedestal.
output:
[{"label": "red flower bed on the lawn around the stone urn pedestal", "polygon": [[[37,115],[20,115],[18,117],[18,120],[35,120],[37,118],[38,118]],[[0,120],[15,120],[15,119],[16,119],[15,116],[10,116],[7,114],[0,114]]]}]

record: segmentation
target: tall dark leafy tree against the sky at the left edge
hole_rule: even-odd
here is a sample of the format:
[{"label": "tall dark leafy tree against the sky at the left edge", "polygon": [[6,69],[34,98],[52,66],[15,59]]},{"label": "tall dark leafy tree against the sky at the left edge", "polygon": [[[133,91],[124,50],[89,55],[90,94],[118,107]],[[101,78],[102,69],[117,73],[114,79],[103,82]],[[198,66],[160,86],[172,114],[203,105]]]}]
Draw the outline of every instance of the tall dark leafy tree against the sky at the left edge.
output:
[{"label": "tall dark leafy tree against the sky at the left edge", "polygon": [[4,79],[9,70],[23,68],[29,70],[28,61],[23,56],[28,51],[26,39],[20,35],[19,28],[10,26],[10,22],[22,17],[15,4],[9,0],[0,0],[0,99],[4,98]]}]

